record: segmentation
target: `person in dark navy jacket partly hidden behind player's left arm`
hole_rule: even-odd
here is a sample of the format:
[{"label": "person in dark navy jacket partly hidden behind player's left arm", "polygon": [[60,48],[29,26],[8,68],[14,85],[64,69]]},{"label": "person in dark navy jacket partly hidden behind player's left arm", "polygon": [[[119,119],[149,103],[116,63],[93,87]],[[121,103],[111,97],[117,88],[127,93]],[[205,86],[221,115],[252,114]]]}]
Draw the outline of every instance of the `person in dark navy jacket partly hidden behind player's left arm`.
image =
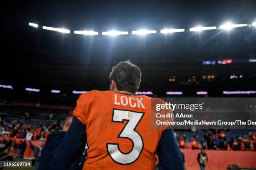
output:
[{"label": "person in dark navy jacket partly hidden behind player's left arm", "polygon": [[[52,132],[47,137],[46,144],[41,153],[41,159],[40,159],[38,170],[50,170],[49,168],[50,162],[54,157],[61,143],[62,138],[66,134],[67,130],[69,130],[69,126],[72,123],[72,118],[73,118],[73,115],[67,116],[63,123],[62,131]],[[73,168],[73,169],[76,169],[76,168]]]}]

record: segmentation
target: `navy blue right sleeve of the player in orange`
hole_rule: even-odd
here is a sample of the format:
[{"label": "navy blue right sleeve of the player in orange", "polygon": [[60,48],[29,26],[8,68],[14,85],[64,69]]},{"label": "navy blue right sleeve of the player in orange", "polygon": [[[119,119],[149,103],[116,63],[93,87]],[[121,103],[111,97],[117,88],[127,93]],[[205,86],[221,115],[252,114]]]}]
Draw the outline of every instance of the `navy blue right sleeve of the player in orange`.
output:
[{"label": "navy blue right sleeve of the player in orange", "polygon": [[164,130],[156,152],[160,170],[184,170],[182,153],[172,129]]}]

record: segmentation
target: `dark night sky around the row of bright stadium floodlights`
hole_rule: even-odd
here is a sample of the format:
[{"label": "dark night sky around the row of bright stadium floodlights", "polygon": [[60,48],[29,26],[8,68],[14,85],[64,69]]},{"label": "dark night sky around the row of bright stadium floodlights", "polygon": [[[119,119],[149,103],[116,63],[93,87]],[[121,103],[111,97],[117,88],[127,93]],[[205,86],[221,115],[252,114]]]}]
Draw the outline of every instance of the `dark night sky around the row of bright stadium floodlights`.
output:
[{"label": "dark night sky around the row of bright stadium floodlights", "polygon": [[[92,60],[117,62],[132,59],[140,62],[152,60],[198,60],[202,57],[233,56],[232,54],[255,54],[256,29],[244,27],[232,31],[209,30],[200,33],[189,32],[189,28],[201,26],[219,27],[227,21],[248,23],[256,21],[256,0],[156,0],[156,1],[24,1],[16,0],[2,6],[5,10],[4,27],[7,51],[22,49],[34,59],[38,50],[43,60],[67,61],[74,56],[78,63]],[[6,22],[5,22],[6,21]],[[37,23],[38,29],[28,23]],[[69,35],[42,30],[42,26],[67,28]],[[163,28],[184,28],[185,32],[169,35],[160,33]],[[148,36],[131,35],[132,30],[157,30]],[[98,36],[74,35],[74,30],[95,30]],[[129,35],[102,36],[102,31],[123,30]],[[41,32],[38,38],[38,32]],[[36,48],[36,43],[40,42]],[[38,43],[39,44],[39,43]],[[17,52],[20,53],[20,52]],[[46,54],[57,54],[51,57]],[[195,54],[195,55],[190,55]],[[227,55],[231,54],[231,55]],[[69,55],[72,55],[70,57]],[[13,57],[19,56],[16,54]],[[189,58],[190,57],[190,58]],[[243,55],[241,55],[243,57]],[[19,58],[19,57],[18,57]],[[40,58],[40,57],[36,57]],[[52,59],[54,58],[54,59]],[[22,58],[22,60],[25,60]],[[41,60],[41,59],[40,59]]]}]

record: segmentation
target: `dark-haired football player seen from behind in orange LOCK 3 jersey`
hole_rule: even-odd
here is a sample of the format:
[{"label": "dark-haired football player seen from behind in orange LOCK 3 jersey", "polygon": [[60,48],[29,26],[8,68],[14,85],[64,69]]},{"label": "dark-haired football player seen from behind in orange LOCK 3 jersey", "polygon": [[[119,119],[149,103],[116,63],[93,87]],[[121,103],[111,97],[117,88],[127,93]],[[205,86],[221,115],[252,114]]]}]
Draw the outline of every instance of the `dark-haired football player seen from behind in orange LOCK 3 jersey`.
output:
[{"label": "dark-haired football player seen from behind in orange LOCK 3 jersey", "polygon": [[155,170],[156,154],[161,170],[183,170],[173,130],[151,127],[155,99],[135,95],[141,70],[130,61],[120,62],[112,68],[109,79],[109,91],[80,95],[51,170],[69,169],[81,159],[86,143],[83,170]]}]

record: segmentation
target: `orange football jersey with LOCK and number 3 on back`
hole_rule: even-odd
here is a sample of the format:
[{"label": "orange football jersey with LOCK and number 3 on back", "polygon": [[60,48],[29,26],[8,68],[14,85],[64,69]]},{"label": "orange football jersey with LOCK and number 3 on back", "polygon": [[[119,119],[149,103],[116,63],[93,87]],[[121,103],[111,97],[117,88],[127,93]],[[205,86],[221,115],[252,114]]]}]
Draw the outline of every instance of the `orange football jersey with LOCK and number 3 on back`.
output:
[{"label": "orange football jersey with LOCK and number 3 on back", "polygon": [[97,90],[80,95],[73,114],[86,125],[83,170],[155,170],[164,130],[151,128],[152,99]]}]

